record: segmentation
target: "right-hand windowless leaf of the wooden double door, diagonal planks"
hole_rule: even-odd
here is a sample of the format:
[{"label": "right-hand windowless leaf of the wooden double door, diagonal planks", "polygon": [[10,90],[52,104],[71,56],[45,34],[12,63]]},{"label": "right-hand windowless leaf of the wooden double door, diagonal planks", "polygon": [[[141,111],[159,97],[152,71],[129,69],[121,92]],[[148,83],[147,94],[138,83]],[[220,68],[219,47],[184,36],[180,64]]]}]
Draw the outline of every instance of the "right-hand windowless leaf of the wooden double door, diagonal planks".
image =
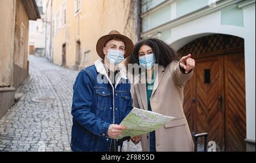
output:
[{"label": "right-hand windowless leaf of the wooden double door, diagonal planks", "polygon": [[226,151],[246,151],[245,60],[243,53],[225,56]]}]

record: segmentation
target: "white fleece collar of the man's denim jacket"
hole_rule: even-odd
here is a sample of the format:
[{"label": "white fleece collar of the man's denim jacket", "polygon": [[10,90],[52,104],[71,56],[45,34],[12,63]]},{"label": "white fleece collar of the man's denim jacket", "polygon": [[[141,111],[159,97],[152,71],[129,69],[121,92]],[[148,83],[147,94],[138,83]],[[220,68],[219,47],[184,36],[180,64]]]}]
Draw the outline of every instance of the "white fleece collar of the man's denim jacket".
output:
[{"label": "white fleece collar of the man's denim jacket", "polygon": [[[98,73],[102,74],[102,75],[105,75],[105,76],[108,76],[107,72],[106,72],[106,69],[104,67],[104,64],[102,63],[102,59],[98,59],[94,62],[94,65],[96,66],[96,70]],[[126,76],[126,66],[124,64],[118,64],[118,69],[119,69],[119,73],[118,75],[127,80],[127,76]]]}]

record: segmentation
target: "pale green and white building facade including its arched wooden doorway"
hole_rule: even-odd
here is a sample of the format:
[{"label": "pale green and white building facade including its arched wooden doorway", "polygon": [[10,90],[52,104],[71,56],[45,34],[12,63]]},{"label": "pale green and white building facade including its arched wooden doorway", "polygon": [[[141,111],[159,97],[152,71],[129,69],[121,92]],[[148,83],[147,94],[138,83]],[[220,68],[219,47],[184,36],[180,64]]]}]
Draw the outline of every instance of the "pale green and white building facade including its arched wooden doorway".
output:
[{"label": "pale green and white building facade including its arched wooden doorway", "polygon": [[141,21],[142,38],[196,60],[184,89],[192,134],[208,132],[217,151],[255,151],[255,1],[143,0]]}]

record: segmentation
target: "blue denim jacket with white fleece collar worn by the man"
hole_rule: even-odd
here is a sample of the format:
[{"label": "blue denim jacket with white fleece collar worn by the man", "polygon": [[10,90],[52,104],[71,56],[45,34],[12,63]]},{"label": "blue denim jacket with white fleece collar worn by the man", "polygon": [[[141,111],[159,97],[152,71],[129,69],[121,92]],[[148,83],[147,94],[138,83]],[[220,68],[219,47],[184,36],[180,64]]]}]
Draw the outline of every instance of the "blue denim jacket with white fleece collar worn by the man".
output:
[{"label": "blue denim jacket with white fleece collar worn by the man", "polygon": [[[110,82],[101,59],[78,74],[73,85],[72,151],[109,151],[110,124],[120,124],[132,109],[126,69],[119,66],[119,70],[115,85]],[[117,140],[114,142],[117,151]]]}]

